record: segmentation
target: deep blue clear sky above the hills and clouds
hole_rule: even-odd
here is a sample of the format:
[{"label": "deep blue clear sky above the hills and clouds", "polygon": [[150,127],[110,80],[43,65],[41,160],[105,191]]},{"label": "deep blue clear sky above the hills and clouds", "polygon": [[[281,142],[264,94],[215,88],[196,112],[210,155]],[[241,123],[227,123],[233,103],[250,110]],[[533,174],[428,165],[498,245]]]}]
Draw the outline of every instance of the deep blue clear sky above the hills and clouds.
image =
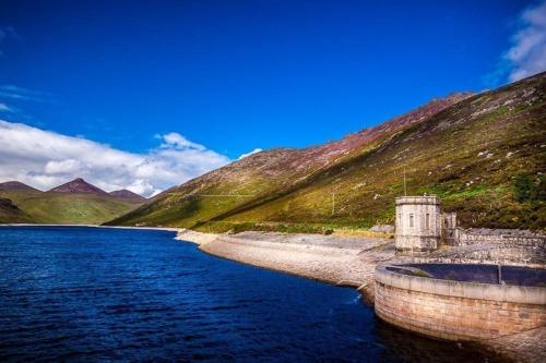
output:
[{"label": "deep blue clear sky above the hills and clouds", "polygon": [[0,119],[133,154],[309,146],[507,83],[539,5],[1,0]]}]

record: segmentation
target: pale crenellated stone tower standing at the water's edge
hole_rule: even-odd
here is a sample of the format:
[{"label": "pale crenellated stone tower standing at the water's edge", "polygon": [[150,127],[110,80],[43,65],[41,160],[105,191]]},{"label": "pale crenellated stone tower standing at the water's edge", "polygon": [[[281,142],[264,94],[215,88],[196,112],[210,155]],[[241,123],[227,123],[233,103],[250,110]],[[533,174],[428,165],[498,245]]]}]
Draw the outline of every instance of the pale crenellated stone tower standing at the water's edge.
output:
[{"label": "pale crenellated stone tower standing at the water's edge", "polygon": [[419,254],[438,247],[441,237],[440,202],[436,196],[396,198],[396,252]]}]

